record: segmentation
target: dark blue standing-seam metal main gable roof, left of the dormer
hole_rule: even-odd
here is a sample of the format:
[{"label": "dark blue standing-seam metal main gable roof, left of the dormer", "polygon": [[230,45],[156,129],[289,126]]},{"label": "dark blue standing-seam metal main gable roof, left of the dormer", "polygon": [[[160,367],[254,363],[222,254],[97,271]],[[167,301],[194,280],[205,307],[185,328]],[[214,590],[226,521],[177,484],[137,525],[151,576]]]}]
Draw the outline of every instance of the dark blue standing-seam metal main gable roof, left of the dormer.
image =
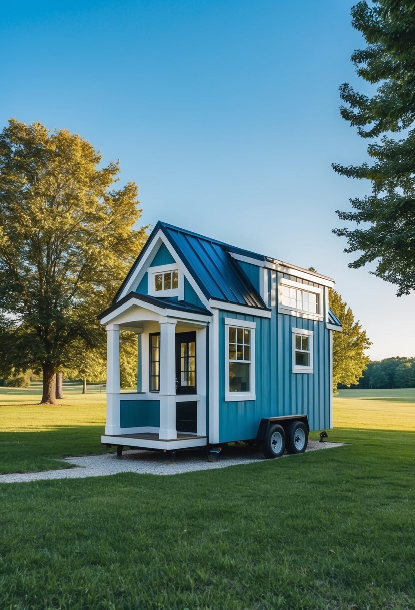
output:
[{"label": "dark blue standing-seam metal main gable roof, left of the dormer", "polygon": [[230,253],[243,254],[257,260],[264,260],[263,256],[161,221],[156,224],[152,234],[148,237],[144,248],[134,262],[133,267],[131,267],[113,302],[117,300],[125,283],[134,272],[150,243],[152,243],[153,235],[159,230],[166,235],[206,298],[223,301],[224,303],[267,309],[261,296]]}]

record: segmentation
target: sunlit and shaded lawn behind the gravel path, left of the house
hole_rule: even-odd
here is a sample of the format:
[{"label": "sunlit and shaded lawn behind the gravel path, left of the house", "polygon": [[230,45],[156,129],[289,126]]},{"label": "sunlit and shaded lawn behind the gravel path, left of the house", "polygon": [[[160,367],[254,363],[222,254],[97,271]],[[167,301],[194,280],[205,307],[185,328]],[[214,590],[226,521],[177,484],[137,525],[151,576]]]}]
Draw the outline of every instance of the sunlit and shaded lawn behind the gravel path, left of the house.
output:
[{"label": "sunlit and shaded lawn behind the gravel path, left of the house", "polygon": [[108,452],[100,445],[105,427],[105,392],[65,384],[57,405],[37,404],[40,384],[0,387],[0,473],[68,468],[58,458]]}]

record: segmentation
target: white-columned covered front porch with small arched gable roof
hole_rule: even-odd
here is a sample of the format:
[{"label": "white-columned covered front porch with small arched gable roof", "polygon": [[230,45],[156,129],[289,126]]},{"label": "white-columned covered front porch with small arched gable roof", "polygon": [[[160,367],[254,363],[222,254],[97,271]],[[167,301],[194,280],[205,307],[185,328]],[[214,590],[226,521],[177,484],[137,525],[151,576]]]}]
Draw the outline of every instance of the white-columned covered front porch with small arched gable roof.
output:
[{"label": "white-columned covered front porch with small arched gable roof", "polygon": [[[107,335],[108,445],[176,450],[207,440],[206,351],[210,313],[131,293],[101,317]],[[137,335],[137,390],[120,390],[120,331]]]}]

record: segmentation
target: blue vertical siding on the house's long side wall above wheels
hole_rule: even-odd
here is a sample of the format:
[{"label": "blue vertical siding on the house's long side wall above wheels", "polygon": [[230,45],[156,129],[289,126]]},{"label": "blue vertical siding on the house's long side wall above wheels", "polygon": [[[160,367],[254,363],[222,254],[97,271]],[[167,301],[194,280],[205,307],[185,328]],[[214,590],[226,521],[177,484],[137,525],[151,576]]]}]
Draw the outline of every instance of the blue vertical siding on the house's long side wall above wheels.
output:
[{"label": "blue vertical siding on the house's long side wall above wheels", "polygon": [[[256,437],[263,417],[306,414],[310,429],[330,427],[330,345],[326,323],[277,311],[277,277],[268,274],[271,318],[221,311],[219,314],[219,440]],[[225,323],[223,318],[256,322],[256,400],[225,402]],[[314,373],[293,373],[293,328],[313,331]]]}]

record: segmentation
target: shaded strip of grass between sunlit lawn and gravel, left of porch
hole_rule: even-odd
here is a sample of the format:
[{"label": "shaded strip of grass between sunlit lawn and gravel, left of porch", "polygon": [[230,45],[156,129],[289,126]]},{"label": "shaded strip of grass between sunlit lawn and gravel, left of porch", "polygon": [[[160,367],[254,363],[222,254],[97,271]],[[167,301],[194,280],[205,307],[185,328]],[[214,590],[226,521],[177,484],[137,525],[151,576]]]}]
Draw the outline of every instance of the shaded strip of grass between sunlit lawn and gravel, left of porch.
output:
[{"label": "shaded strip of grass between sunlit lawn and gravel, left of porch", "polygon": [[101,443],[103,426],[60,426],[47,431],[2,432],[0,473],[71,468],[57,461],[71,456],[109,453]]}]

